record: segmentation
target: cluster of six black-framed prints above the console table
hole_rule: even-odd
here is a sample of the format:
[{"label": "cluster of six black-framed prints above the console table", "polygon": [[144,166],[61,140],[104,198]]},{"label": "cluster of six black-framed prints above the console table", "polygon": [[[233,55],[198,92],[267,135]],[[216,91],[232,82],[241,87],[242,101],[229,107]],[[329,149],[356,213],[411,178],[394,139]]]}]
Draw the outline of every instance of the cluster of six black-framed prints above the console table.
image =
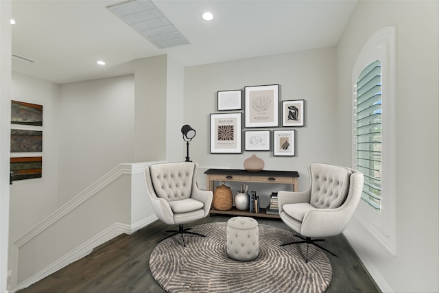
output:
[{"label": "cluster of six black-framed prints above the console table", "polygon": [[[305,99],[281,100],[280,93],[280,84],[217,91],[219,113],[210,114],[210,153],[241,154],[244,148],[296,156],[292,128],[305,126]],[[241,112],[228,112],[237,110]]]}]

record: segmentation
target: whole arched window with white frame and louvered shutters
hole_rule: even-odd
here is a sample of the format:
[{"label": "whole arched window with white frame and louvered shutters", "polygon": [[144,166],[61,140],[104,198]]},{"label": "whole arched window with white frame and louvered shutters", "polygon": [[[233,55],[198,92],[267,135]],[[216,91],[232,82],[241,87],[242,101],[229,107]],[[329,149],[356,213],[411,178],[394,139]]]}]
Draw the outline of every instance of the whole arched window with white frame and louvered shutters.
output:
[{"label": "whole arched window with white frame and louvered shutters", "polygon": [[395,27],[364,45],[353,69],[353,166],[364,174],[356,217],[396,253]]}]

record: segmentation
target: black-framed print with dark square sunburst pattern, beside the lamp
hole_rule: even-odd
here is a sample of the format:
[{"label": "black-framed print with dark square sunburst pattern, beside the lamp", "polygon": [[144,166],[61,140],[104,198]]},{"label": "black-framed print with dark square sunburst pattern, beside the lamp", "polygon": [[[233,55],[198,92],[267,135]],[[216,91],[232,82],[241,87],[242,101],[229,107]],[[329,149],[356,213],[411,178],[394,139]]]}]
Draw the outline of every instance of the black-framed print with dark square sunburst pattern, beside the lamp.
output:
[{"label": "black-framed print with dark square sunburst pattern, beside the lamp", "polygon": [[241,154],[242,113],[211,114],[211,154]]}]

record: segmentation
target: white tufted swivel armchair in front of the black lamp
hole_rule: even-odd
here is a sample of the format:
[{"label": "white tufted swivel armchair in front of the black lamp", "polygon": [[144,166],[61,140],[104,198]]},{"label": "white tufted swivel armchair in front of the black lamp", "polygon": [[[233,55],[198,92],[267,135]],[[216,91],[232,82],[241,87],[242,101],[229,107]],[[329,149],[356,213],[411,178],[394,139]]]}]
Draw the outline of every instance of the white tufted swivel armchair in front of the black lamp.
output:
[{"label": "white tufted swivel armchair in front of the black lamp", "polygon": [[167,231],[175,233],[164,239],[180,233],[183,246],[183,233],[204,237],[184,229],[183,224],[209,215],[212,204],[213,192],[198,189],[197,170],[198,164],[191,162],[155,164],[144,169],[147,193],[157,218],[169,225],[178,224],[178,231]]}]

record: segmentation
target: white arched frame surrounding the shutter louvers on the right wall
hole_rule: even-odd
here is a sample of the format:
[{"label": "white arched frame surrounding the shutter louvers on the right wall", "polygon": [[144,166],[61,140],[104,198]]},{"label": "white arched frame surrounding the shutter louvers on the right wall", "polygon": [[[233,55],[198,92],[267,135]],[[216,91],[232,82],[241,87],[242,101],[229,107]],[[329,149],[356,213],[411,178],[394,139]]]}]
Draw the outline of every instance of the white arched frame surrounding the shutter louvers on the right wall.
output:
[{"label": "white arched frame surrounding the shutter louvers on the right wall", "polygon": [[356,154],[356,84],[361,71],[381,60],[381,213],[361,200],[355,218],[396,255],[396,27],[384,27],[361,49],[352,73],[352,165]]}]

